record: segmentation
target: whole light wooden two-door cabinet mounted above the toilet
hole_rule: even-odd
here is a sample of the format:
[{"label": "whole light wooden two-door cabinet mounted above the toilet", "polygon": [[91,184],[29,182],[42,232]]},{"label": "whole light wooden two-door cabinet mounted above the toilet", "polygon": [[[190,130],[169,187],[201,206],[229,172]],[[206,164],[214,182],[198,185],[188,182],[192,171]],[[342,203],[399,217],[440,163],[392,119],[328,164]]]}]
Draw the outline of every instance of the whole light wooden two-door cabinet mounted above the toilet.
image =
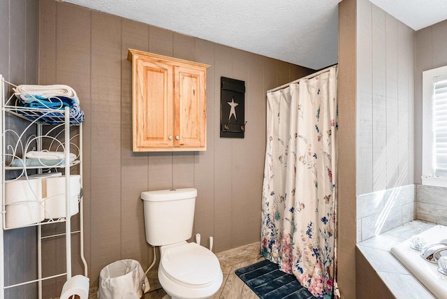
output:
[{"label": "whole light wooden two-door cabinet mounted above the toilet", "polygon": [[133,151],[206,150],[207,64],[129,49]]}]

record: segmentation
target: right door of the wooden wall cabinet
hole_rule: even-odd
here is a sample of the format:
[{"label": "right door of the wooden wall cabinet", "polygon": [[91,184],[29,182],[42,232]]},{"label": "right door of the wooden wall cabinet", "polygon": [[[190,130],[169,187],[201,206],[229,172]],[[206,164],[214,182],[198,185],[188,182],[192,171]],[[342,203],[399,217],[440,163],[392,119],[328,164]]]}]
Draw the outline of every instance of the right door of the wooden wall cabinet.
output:
[{"label": "right door of the wooden wall cabinet", "polygon": [[205,86],[203,68],[175,67],[175,147],[206,149]]}]

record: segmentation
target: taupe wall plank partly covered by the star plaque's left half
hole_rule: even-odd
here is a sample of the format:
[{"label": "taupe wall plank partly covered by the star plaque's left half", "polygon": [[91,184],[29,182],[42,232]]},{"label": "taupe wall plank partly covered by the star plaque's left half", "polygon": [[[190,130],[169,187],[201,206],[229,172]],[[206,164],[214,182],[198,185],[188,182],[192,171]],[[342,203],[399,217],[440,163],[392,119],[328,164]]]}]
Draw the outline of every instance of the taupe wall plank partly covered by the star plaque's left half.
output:
[{"label": "taupe wall plank partly covered by the star plaque's left half", "polygon": [[[214,115],[220,123],[221,76],[233,77],[233,55],[231,49],[223,45],[214,46],[214,98],[219,99],[214,106]],[[218,87],[218,88],[216,88]],[[211,140],[210,140],[211,141]],[[214,246],[215,252],[231,249],[233,244],[232,224],[232,167],[233,138],[220,138],[220,126],[214,129]]]}]

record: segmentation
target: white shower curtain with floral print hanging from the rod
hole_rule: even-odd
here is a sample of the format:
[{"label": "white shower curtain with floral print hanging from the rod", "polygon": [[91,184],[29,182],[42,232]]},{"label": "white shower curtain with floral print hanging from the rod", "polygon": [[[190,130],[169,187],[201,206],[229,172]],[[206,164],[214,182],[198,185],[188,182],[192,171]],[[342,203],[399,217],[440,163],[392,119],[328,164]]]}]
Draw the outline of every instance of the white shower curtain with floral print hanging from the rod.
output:
[{"label": "white shower curtain with floral print hanging from the rod", "polygon": [[268,92],[262,254],[318,298],[336,272],[337,66]]}]

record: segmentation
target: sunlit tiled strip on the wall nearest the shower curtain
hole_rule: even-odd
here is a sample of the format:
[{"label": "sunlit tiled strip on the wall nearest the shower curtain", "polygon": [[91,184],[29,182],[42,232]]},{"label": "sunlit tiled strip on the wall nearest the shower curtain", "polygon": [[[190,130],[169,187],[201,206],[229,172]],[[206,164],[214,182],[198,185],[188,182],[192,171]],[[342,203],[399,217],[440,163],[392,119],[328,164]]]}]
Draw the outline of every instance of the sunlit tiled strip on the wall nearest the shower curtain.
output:
[{"label": "sunlit tiled strip on the wall nearest the shower curtain", "polygon": [[415,197],[413,184],[358,196],[357,242],[415,219]]}]

